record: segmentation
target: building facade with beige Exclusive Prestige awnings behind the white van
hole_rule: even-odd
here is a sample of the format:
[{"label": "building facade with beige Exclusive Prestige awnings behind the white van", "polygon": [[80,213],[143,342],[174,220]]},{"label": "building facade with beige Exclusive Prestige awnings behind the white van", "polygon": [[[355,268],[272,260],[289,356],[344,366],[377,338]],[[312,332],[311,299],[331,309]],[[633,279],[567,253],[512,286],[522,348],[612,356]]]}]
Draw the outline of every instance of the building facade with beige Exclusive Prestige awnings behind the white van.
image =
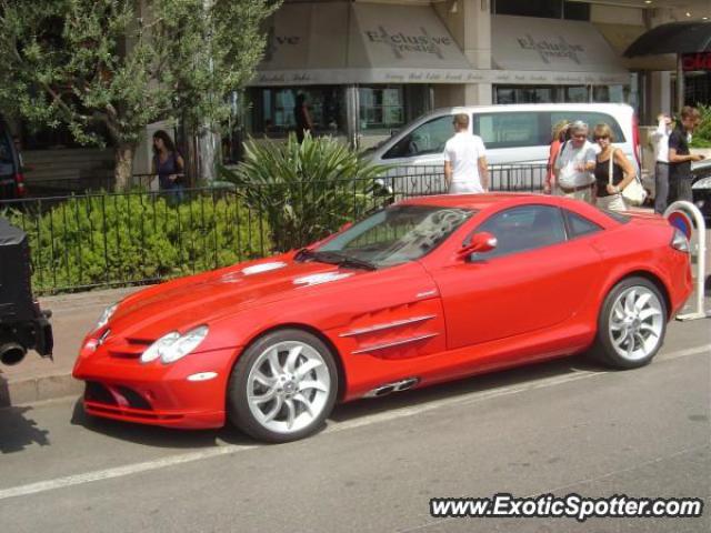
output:
[{"label": "building facade with beige Exclusive Prestige awnings behind the white van", "polygon": [[[672,110],[675,58],[623,52],[653,26],[711,16],[710,3],[287,0],[247,91],[246,130],[293,131],[299,94],[317,132],[359,147],[448,105],[627,102],[651,123]],[[688,103],[708,99],[708,72],[687,77]]]}]

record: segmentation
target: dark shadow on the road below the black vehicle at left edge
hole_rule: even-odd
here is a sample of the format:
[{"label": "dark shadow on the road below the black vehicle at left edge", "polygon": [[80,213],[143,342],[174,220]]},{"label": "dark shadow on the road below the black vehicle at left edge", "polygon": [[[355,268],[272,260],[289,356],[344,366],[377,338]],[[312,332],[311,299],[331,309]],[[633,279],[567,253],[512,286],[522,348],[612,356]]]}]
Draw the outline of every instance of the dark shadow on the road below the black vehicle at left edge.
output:
[{"label": "dark shadow on the road below the black vehicle at left edge", "polygon": [[0,454],[20,452],[27,446],[50,444],[48,431],[37,426],[37,422],[27,416],[32,408],[10,405],[7,380],[0,375]]}]

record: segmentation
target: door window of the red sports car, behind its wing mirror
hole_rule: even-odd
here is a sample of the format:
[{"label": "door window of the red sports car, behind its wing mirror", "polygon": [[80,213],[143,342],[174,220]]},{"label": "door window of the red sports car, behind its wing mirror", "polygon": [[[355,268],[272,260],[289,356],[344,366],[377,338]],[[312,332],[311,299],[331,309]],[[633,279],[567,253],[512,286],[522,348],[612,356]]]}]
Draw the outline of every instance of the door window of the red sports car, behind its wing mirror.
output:
[{"label": "door window of the red sports car, behind its wing mirror", "polygon": [[497,248],[477,254],[477,259],[523,252],[565,241],[563,217],[550,205],[523,205],[497,213],[475,232],[488,231],[497,238]]}]

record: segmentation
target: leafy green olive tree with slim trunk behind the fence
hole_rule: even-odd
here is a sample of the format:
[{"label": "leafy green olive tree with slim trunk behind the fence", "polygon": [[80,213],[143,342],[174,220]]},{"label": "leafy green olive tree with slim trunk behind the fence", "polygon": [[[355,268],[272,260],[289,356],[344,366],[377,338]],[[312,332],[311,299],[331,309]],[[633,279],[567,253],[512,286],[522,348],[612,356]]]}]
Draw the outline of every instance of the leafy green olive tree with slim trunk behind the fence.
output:
[{"label": "leafy green olive tree with slim trunk behind the fence", "polygon": [[276,0],[0,0],[0,110],[116,151],[124,188],[146,125],[219,123],[253,74]]}]

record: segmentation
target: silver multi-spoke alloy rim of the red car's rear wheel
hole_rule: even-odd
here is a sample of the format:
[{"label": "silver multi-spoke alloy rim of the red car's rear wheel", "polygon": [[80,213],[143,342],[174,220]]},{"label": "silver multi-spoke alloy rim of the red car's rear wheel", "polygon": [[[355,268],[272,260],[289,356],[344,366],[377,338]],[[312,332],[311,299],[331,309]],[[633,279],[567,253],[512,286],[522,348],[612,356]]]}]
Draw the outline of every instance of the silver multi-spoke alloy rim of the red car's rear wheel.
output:
[{"label": "silver multi-spoke alloy rim of the red car's rear wheel", "polygon": [[647,286],[633,285],[612,304],[608,333],[622,359],[640,361],[657,349],[663,326],[664,312],[658,295]]}]

